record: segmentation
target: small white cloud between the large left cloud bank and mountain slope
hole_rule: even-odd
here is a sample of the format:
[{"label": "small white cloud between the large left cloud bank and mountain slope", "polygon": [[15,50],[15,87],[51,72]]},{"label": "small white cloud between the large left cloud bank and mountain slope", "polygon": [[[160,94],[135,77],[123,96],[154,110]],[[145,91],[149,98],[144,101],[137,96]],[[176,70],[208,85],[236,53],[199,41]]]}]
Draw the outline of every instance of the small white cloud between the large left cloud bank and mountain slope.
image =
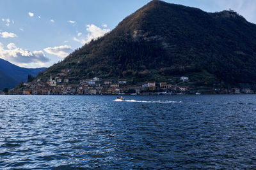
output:
[{"label": "small white cloud between the large left cloud bank and mountain slope", "polygon": [[72,48],[68,45],[61,45],[44,48],[44,51],[53,55],[57,55],[61,58],[65,58],[70,52],[72,52]]}]

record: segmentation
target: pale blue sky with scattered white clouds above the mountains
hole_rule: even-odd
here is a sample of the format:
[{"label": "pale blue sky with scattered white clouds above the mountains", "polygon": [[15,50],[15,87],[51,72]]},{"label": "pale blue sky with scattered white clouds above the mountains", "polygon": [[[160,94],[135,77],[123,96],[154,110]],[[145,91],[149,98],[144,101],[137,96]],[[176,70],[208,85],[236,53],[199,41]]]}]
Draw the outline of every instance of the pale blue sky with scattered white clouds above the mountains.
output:
[{"label": "pale blue sky with scattered white clouds above the mountains", "polygon": [[[255,0],[164,0],[207,12],[231,8],[256,24]],[[111,31],[150,0],[0,0],[0,58],[49,67]]]}]

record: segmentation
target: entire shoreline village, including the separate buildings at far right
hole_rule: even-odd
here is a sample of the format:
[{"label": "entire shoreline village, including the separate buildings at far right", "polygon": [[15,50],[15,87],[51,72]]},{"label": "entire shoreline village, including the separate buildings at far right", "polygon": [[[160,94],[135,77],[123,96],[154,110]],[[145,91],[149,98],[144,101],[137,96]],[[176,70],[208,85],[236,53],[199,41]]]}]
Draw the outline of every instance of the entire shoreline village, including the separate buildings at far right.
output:
[{"label": "entire shoreline village, including the separate buildings at far right", "polygon": [[[54,78],[49,77],[47,82],[40,79],[28,83],[22,83],[21,89],[11,89],[10,95],[170,95],[170,94],[201,94],[186,85],[189,81],[187,76],[179,78],[180,83],[173,85],[170,82],[147,81],[134,85],[127,79],[100,79],[97,77],[70,83],[68,73],[71,69],[63,69]],[[253,94],[250,89],[212,89],[216,94]],[[221,90],[221,93],[220,93]],[[3,93],[2,93],[3,94]],[[212,93],[214,94],[214,93]]]}]

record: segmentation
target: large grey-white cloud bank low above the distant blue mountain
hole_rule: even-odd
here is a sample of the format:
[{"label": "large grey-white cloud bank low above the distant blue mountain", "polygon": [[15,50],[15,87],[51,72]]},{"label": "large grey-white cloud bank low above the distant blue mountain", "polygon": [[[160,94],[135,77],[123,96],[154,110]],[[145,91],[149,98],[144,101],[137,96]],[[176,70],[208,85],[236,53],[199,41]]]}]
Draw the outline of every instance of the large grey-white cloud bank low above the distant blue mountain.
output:
[{"label": "large grey-white cloud bank low above the distant blue mountain", "polygon": [[42,66],[45,62],[49,61],[42,51],[30,52],[29,50],[17,48],[14,43],[8,44],[7,48],[7,50],[4,49],[4,45],[0,43],[0,57],[18,66],[26,66],[27,64]]}]

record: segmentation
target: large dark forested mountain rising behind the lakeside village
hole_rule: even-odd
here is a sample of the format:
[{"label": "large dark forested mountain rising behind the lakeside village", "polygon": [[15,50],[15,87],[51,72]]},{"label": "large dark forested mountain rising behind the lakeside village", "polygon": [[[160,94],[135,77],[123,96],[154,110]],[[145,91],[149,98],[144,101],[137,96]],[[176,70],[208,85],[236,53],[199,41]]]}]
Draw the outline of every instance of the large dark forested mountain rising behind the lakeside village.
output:
[{"label": "large dark forested mountain rising behind the lakeside village", "polygon": [[256,25],[234,11],[207,13],[154,0],[39,77],[46,80],[67,68],[74,81],[93,76],[163,81],[190,75],[201,83],[212,77],[212,87],[254,85]]}]

